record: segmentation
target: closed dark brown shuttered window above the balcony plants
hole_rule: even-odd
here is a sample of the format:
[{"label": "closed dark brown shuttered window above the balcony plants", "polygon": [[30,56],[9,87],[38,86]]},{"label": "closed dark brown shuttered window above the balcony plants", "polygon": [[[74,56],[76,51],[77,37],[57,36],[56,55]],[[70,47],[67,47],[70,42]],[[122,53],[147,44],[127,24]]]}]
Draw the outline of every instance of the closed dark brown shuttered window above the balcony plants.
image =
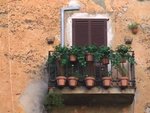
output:
[{"label": "closed dark brown shuttered window above the balcony plants", "polygon": [[108,19],[73,19],[73,45],[107,45]]}]

